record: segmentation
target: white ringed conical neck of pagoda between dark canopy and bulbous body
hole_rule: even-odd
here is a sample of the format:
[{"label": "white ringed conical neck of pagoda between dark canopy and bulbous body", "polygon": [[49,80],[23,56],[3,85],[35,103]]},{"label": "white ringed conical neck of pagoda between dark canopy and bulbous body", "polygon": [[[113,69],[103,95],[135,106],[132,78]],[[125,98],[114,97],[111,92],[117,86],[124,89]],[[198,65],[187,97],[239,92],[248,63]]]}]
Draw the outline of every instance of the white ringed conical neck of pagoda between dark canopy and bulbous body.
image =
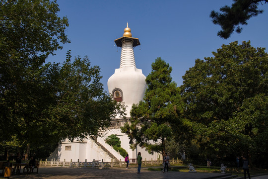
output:
[{"label": "white ringed conical neck of pagoda between dark canopy and bulbous body", "polygon": [[123,67],[136,67],[132,39],[122,39],[120,68]]}]

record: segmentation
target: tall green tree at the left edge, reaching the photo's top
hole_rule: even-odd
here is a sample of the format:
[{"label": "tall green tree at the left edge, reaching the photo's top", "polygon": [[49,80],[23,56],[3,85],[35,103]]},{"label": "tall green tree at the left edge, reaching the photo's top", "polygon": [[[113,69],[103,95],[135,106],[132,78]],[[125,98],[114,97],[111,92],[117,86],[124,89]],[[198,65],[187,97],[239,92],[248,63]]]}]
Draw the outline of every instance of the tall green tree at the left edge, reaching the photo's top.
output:
[{"label": "tall green tree at the left edge, reaching the photo's top", "polygon": [[48,55],[69,42],[65,34],[68,21],[58,17],[56,1],[1,0],[0,9],[0,138],[6,141],[5,147],[21,147],[25,141],[17,138],[25,131],[16,128],[22,127],[18,120],[32,112],[38,116],[37,111],[43,109],[28,105],[30,101],[50,100],[37,77]]}]

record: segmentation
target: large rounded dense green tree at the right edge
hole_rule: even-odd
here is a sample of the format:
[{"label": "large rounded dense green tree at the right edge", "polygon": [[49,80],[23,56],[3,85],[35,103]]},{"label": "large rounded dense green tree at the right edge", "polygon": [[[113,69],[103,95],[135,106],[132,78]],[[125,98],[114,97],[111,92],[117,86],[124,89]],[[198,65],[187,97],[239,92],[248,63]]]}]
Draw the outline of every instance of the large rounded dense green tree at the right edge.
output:
[{"label": "large rounded dense green tree at the right edge", "polygon": [[[203,157],[267,156],[268,54],[250,42],[222,45],[183,76],[184,115]],[[263,141],[260,139],[263,138]]]}]

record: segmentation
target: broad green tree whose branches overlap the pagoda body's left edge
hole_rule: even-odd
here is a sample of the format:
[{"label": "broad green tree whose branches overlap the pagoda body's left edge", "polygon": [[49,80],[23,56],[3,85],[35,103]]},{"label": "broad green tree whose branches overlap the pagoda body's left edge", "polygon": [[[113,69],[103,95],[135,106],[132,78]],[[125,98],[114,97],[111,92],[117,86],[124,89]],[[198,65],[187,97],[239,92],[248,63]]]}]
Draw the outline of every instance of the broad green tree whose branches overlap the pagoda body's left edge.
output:
[{"label": "broad green tree whose branches overlap the pagoda body's left edge", "polygon": [[[120,110],[120,104],[104,92],[99,67],[91,67],[87,57],[71,62],[68,52],[63,65],[49,63],[36,71],[16,91],[5,92],[13,98],[2,102],[6,116],[0,125],[9,131],[3,133],[4,146],[30,145],[37,150],[65,138],[97,135]],[[9,142],[14,139],[20,145]]]}]

